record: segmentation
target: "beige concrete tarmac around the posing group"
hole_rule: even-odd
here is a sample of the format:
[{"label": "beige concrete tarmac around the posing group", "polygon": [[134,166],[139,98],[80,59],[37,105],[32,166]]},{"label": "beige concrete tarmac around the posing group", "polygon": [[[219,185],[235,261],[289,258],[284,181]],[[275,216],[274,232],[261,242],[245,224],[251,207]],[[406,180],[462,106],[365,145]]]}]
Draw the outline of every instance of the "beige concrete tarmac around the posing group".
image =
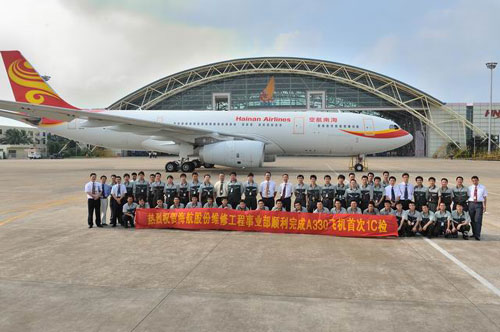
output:
[{"label": "beige concrete tarmac around the posing group", "polygon": [[[500,331],[500,162],[368,159],[398,180],[478,175],[482,241],[88,229],[91,171],[165,174],[167,161],[0,161],[0,331]],[[282,157],[251,171],[321,184],[347,165]]]}]

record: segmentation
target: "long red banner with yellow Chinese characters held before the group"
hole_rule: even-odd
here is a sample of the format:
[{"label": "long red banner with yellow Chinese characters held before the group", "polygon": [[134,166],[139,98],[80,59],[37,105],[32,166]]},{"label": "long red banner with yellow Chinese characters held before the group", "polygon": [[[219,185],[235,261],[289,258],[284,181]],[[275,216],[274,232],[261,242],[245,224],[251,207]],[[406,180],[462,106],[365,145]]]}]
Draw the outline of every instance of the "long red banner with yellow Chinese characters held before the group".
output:
[{"label": "long red banner with yellow Chinese characters held before the group", "polygon": [[228,230],[353,237],[398,236],[395,216],[226,209],[137,209],[136,228]]}]

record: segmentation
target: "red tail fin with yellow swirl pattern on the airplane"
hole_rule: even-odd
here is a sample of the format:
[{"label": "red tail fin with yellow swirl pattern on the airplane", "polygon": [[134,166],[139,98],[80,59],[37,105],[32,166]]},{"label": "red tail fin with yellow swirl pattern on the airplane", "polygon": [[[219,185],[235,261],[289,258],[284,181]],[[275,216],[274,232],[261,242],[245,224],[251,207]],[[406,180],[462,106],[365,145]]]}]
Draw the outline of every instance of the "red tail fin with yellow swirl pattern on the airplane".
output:
[{"label": "red tail fin with yellow swirl pattern on the airplane", "polygon": [[18,102],[77,109],[47,84],[19,51],[0,51],[14,97]]}]

